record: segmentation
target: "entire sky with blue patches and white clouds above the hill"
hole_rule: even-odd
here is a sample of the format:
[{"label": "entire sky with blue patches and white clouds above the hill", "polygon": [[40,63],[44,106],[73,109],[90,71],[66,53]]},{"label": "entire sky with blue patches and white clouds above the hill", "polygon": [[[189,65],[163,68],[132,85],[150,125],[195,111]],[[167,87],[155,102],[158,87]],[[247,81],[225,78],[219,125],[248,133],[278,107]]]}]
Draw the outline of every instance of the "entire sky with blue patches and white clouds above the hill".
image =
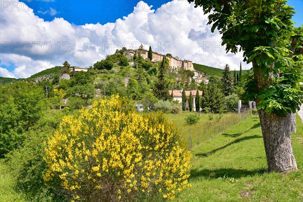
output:
[{"label": "entire sky with blue patches and white clouds above the hill", "polygon": [[[125,46],[223,69],[239,69],[242,53],[226,54],[207,16],[182,0],[0,0],[0,76],[27,78],[62,66],[89,67]],[[288,1],[303,21],[303,0]],[[251,64],[242,62],[243,69]]]}]

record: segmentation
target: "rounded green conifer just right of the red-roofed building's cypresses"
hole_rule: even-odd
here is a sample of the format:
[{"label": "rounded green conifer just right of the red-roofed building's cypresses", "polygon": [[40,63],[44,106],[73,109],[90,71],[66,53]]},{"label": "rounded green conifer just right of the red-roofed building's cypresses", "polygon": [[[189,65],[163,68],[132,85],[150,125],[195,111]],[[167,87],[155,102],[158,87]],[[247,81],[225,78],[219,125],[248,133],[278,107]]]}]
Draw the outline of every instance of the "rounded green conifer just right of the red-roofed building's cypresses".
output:
[{"label": "rounded green conifer just right of the red-roofed building's cypresses", "polygon": [[219,113],[225,107],[225,97],[219,83],[210,82],[201,98],[202,110],[210,109],[212,113]]}]

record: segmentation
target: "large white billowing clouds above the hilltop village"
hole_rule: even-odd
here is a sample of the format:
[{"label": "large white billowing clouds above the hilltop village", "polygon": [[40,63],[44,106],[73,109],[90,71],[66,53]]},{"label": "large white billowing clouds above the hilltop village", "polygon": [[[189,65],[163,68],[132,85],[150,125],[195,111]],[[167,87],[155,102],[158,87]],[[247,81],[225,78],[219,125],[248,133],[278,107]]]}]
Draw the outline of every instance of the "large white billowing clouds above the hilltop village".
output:
[{"label": "large white billowing clouds above the hilltop village", "polygon": [[[221,36],[211,33],[202,9],[187,1],[174,0],[156,12],[141,1],[131,14],[115,23],[81,26],[63,18],[44,21],[25,4],[19,5],[23,8],[19,12],[2,8],[0,14],[1,64],[16,66],[12,72],[2,68],[2,75],[28,77],[64,61],[88,67],[117,48],[136,48],[140,42],[146,42],[146,49],[151,44],[156,52],[218,68],[229,64],[231,69],[239,69],[243,60],[241,53],[225,53]],[[250,65],[242,63],[242,67]]]}]

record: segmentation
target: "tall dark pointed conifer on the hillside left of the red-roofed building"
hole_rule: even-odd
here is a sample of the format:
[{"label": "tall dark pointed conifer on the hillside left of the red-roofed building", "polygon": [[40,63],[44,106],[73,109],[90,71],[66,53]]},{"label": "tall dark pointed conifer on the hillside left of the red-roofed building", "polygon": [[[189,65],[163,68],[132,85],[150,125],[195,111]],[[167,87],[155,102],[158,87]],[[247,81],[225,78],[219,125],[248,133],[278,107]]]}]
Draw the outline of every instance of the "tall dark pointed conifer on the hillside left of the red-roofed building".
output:
[{"label": "tall dark pointed conifer on the hillside left of the red-roofed building", "polygon": [[166,79],[167,65],[165,65],[165,57],[163,57],[161,66],[159,68],[158,79],[155,82],[154,94],[158,99],[168,100],[169,94],[169,81]]}]

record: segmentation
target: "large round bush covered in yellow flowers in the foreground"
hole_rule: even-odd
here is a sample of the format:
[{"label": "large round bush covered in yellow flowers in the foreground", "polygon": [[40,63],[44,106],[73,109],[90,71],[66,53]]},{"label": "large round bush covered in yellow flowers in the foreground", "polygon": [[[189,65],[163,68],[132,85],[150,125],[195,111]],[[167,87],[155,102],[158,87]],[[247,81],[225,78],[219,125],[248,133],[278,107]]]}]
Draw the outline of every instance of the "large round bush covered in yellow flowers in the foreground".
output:
[{"label": "large round bush covered in yellow flowers in the foreground", "polygon": [[44,174],[74,201],[173,199],[188,186],[190,153],[164,115],[139,115],[118,95],[66,116],[46,145]]}]

